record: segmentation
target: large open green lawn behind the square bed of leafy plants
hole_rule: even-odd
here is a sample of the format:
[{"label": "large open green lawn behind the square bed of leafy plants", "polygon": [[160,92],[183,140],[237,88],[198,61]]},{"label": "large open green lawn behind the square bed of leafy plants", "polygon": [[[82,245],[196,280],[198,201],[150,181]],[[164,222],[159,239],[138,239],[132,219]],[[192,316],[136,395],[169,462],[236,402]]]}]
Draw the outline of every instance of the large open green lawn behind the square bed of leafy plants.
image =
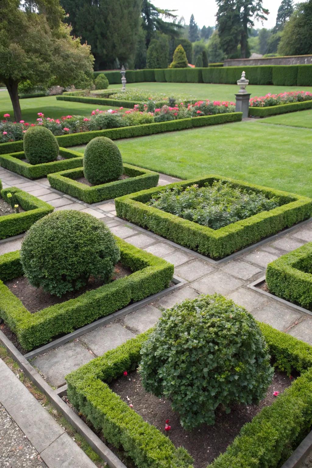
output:
[{"label": "large open green lawn behind the square bed of leafy plants", "polygon": [[116,143],[124,162],[171,176],[218,174],[312,197],[311,141],[312,130],[245,121]]}]

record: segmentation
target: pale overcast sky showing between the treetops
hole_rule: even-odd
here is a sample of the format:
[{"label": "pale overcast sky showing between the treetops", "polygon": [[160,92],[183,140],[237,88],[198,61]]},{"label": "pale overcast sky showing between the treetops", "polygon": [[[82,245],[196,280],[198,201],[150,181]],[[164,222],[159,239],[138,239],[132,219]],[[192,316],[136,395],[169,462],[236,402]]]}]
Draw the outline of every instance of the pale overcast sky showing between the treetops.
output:
[{"label": "pale overcast sky showing between the treetops", "polygon": [[[273,28],[276,22],[276,14],[282,0],[263,0],[263,7],[268,8],[268,21],[255,24],[256,28]],[[195,21],[201,28],[205,26],[214,26],[216,22],[217,3],[215,0],[154,0],[154,5],[160,8],[178,10],[177,15],[184,16],[185,22],[189,23],[191,14],[195,16]]]}]

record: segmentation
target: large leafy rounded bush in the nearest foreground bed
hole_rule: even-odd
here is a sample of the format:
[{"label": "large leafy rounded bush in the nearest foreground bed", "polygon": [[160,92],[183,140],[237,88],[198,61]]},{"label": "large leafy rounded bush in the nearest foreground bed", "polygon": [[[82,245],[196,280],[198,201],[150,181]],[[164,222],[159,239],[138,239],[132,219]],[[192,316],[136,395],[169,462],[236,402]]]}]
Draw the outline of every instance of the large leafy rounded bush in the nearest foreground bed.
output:
[{"label": "large leafy rounded bush in the nearest foreground bed", "polygon": [[185,429],[214,424],[218,405],[259,402],[273,376],[253,316],[219,294],[165,311],[141,354],[143,386],[171,400]]}]

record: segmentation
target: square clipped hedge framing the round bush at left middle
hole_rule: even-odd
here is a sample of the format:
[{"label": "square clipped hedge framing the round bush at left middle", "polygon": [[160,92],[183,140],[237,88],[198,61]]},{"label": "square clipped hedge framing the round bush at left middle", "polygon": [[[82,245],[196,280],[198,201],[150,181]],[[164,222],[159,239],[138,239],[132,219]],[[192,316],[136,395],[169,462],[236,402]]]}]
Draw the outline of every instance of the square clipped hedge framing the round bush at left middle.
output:
[{"label": "square clipped hedge framing the round bush at left middle", "polygon": [[0,317],[23,348],[30,351],[54,336],[70,333],[168,287],[174,274],[171,263],[116,236],[115,239],[121,251],[121,262],[133,271],[131,275],[34,314],[3,283],[23,274],[20,251],[0,256]]}]

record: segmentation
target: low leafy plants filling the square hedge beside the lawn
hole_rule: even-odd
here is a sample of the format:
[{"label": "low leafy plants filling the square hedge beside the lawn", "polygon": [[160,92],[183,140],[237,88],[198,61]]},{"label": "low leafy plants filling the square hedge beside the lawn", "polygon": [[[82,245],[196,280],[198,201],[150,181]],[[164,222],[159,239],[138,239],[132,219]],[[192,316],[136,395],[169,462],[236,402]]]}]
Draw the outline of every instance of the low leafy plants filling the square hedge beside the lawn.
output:
[{"label": "low leafy plants filling the square hedge beside the lawn", "polygon": [[153,195],[147,205],[202,226],[219,229],[262,211],[273,210],[278,206],[278,200],[214,181],[211,186],[205,183],[202,188],[195,184],[184,190],[181,186],[167,189]]}]

